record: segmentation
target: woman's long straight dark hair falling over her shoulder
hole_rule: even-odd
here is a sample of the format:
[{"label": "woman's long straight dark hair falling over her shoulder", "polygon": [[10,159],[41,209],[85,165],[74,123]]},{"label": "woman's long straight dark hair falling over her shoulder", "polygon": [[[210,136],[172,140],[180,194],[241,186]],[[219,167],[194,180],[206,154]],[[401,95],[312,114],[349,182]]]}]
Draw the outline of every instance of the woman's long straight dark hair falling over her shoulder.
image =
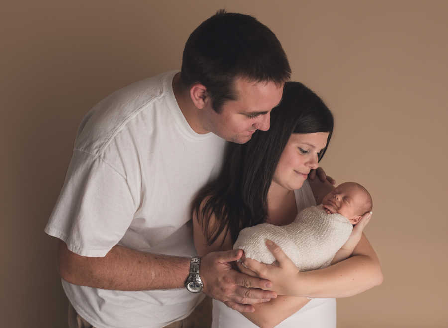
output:
[{"label": "woman's long straight dark hair falling over her shoulder", "polygon": [[[245,144],[228,143],[218,177],[196,195],[196,213],[208,245],[226,230],[233,242],[239,231],[267,218],[267,193],[280,155],[292,133],[333,132],[333,116],[324,102],[299,82],[286,82],[281,103],[271,112],[268,131],[256,131]],[[214,215],[216,224],[209,227]]]}]

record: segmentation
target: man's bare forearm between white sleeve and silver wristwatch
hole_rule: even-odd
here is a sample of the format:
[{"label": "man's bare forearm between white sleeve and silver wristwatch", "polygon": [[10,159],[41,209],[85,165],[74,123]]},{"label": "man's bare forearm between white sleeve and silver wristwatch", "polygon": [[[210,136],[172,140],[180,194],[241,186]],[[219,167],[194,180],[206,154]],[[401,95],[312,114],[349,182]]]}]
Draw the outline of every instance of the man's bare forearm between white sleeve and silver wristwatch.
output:
[{"label": "man's bare forearm between white sleeve and silver wristwatch", "polygon": [[85,257],[60,241],[58,268],[73,284],[113,290],[181,288],[188,277],[190,259],[151,254],[114,246],[105,257]]}]

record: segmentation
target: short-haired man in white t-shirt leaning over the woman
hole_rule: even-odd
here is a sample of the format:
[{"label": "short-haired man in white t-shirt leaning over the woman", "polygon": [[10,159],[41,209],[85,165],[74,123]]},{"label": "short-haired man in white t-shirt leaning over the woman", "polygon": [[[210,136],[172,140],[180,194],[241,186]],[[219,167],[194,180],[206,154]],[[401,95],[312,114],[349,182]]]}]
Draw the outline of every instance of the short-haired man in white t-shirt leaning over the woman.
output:
[{"label": "short-haired man in white t-shirt leaning over the woman", "polygon": [[269,129],[289,77],[266,26],[219,11],[190,35],[180,73],[118,90],[85,116],[45,228],[61,240],[59,272],[78,321],[164,327],[193,311],[202,288],[239,311],[276,297],[262,290],[269,281],[232,269],[242,251],[192,259],[189,209],[219,170],[224,140]]}]

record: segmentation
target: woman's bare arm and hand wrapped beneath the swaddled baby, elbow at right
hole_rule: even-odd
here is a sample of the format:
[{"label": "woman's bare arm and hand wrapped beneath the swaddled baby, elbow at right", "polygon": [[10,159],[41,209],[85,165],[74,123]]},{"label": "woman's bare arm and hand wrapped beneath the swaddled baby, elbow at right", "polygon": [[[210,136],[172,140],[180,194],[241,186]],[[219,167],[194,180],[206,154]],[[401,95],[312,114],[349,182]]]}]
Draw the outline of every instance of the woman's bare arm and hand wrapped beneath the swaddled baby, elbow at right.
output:
[{"label": "woman's bare arm and hand wrapped beneath the swaddled baby, elbow at right", "polygon": [[324,269],[300,272],[277,245],[266,244],[278,266],[244,259],[259,277],[272,282],[281,295],[312,298],[340,298],[357,295],[383,282],[383,273],[373,247],[362,234],[353,256]]}]

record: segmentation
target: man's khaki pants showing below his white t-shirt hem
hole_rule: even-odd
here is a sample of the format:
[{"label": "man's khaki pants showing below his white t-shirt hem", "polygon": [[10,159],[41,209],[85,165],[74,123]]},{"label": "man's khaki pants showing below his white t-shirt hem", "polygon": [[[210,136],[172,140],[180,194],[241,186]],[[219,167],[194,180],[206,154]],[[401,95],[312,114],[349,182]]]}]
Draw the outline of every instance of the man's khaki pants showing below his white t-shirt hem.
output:
[{"label": "man's khaki pants showing below his white t-shirt hem", "polygon": [[[206,297],[187,318],[176,321],[164,328],[210,328],[212,325],[212,299]],[[69,328],[95,328],[81,316],[69,302]]]}]

